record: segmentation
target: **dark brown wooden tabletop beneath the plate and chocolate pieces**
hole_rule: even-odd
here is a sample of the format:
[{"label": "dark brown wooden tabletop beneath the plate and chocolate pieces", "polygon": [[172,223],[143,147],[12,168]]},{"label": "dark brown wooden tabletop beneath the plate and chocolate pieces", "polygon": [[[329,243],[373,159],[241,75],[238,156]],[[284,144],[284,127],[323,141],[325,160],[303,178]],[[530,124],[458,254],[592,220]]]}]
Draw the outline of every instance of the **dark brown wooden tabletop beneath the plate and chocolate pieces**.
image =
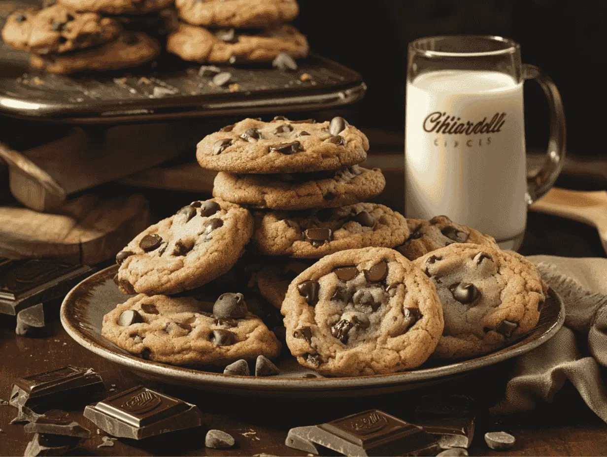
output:
[{"label": "dark brown wooden tabletop beneath the plate and chocolate pieces", "polygon": [[[169,191],[146,191],[146,197],[157,208],[158,215],[170,214],[181,201],[191,195]],[[170,209],[168,208],[170,207]],[[604,257],[605,253],[595,229],[577,222],[543,214],[529,214],[526,237],[521,248],[525,255],[554,254],[570,257]],[[59,303],[51,303],[46,310],[47,327],[38,337],[15,335],[15,318],[0,315],[0,399],[8,399],[13,382],[19,377],[72,364],[92,367],[103,377],[106,387],[120,391],[140,384],[126,368],[112,364],[76,344],[61,327],[58,320]],[[427,388],[453,393],[469,394],[484,410],[503,396],[507,373],[512,361],[498,364],[469,376]],[[203,411],[203,425],[199,428],[134,441],[118,439],[114,447],[101,447],[97,427],[84,418],[84,405],[70,411],[73,419],[92,431],[92,437],[69,455],[293,455],[305,453],[285,447],[288,429],[312,425],[361,411],[381,408],[403,419],[411,414],[410,405],[419,398],[419,391],[384,395],[381,397],[316,400],[270,399],[227,396],[182,387],[151,384],[151,388],[193,402]],[[23,455],[30,435],[22,425],[10,425],[16,408],[0,406],[0,455]],[[231,433],[237,445],[227,451],[206,449],[206,430],[219,428]],[[495,452],[486,447],[483,435],[487,431],[505,430],[517,438],[514,449]],[[337,454],[333,454],[337,455]],[[537,410],[501,418],[484,413],[478,418],[475,439],[470,455],[607,455],[607,425],[600,421],[585,404],[577,391],[566,384],[552,404]]]}]

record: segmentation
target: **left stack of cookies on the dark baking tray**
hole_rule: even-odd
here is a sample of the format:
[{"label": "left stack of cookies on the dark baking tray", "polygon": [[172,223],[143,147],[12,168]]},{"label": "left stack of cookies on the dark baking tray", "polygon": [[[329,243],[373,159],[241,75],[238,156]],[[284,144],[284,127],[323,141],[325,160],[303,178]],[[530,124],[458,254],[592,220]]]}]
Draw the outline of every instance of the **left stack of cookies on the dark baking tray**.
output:
[{"label": "left stack of cookies on the dark baking tray", "polygon": [[2,38],[9,46],[31,52],[31,66],[50,73],[136,67],[160,53],[157,39],[145,33],[143,25],[154,23],[158,33],[168,32],[171,12],[161,15],[158,11],[171,3],[59,0],[42,9],[14,12],[8,16]]}]

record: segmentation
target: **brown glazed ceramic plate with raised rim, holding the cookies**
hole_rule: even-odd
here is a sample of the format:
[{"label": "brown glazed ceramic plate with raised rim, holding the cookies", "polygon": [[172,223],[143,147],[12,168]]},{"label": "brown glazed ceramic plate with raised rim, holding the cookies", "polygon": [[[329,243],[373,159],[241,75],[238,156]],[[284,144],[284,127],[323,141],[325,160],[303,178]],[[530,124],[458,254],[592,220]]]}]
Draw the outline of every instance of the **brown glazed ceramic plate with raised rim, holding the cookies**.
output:
[{"label": "brown glazed ceramic plate with raised rim, holding the cookies", "polygon": [[209,391],[269,396],[359,396],[410,390],[422,385],[442,382],[471,370],[497,364],[531,351],[548,341],[565,321],[565,308],[552,289],[543,306],[540,322],[531,333],[500,351],[451,364],[429,361],[412,371],[359,377],[302,377],[312,373],[300,367],[292,356],[277,362],[280,376],[229,376],[189,367],[175,367],[144,360],[127,353],[101,336],[104,314],[130,296],[114,283],[117,266],[110,266],[83,280],[67,294],[61,305],[61,323],[78,344],[117,364],[131,368],[140,376],[169,384],[187,385]]}]

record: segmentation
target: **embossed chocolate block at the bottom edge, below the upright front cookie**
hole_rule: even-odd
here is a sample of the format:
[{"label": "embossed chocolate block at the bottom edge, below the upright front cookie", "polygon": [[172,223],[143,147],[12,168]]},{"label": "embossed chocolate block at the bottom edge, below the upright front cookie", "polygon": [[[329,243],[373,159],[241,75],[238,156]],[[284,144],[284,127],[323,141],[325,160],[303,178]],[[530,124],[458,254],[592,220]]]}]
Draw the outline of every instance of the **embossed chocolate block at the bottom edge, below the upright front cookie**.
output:
[{"label": "embossed chocolate block at the bottom edge, below the upright front cookie", "polygon": [[318,453],[314,444],[347,456],[436,455],[439,437],[380,410],[368,410],[326,424],[291,428],[285,444]]}]

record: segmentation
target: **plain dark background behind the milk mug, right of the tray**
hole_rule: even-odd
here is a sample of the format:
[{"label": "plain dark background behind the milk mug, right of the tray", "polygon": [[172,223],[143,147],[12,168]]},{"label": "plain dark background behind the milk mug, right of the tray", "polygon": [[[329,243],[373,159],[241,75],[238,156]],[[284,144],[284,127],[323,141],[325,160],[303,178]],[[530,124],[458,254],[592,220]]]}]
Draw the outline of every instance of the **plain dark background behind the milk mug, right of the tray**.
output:
[{"label": "plain dark background behind the milk mug, right of the tray", "polygon": [[[481,33],[513,38],[525,63],[552,77],[565,105],[568,153],[605,155],[603,73],[607,2],[550,0],[304,0],[295,25],[311,49],[359,73],[365,99],[351,107],[360,127],[404,134],[407,43],[429,35]],[[525,84],[527,147],[543,149],[549,112]]]}]

